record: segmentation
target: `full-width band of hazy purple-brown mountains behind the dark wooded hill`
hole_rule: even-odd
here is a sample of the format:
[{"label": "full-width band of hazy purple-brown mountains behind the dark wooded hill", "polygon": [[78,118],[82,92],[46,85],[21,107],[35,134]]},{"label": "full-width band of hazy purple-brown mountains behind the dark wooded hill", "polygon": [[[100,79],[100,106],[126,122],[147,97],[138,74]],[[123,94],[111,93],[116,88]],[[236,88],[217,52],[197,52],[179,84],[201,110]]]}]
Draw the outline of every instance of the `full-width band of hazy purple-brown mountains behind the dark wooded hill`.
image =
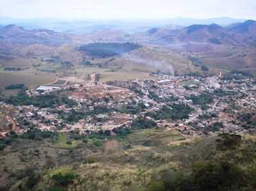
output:
[{"label": "full-width band of hazy purple-brown mountains behind the dark wooded hill", "polygon": [[169,24],[134,34],[106,29],[84,35],[59,33],[49,29],[24,29],[14,24],[0,26],[1,52],[8,52],[13,46],[19,45],[56,46],[63,43],[90,42],[164,43],[165,45],[200,43],[207,49],[211,45],[256,46],[256,21],[246,20],[224,27],[218,24],[193,24],[187,27]]}]

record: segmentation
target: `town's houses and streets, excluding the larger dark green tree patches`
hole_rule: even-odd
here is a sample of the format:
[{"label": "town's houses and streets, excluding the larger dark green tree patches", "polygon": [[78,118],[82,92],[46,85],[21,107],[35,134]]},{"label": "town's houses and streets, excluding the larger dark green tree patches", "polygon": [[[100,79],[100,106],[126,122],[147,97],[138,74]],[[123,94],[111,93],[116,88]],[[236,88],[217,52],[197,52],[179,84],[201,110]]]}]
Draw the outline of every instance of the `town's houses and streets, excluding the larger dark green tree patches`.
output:
[{"label": "town's houses and streets, excluding the larger dark green tree patches", "polygon": [[[77,130],[81,133],[88,131],[112,130],[113,128],[127,125],[138,116],[145,116],[147,112],[159,111],[163,105],[167,103],[156,102],[150,94],[154,93],[159,98],[175,97],[173,103],[186,103],[194,112],[189,115],[189,119],[179,121],[159,120],[157,124],[164,128],[174,128],[188,135],[202,135],[209,126],[220,122],[223,124],[221,132],[243,132],[245,131],[241,125],[234,123],[236,120],[236,109],[232,113],[226,112],[230,107],[230,102],[239,106],[240,109],[246,111],[255,111],[256,108],[256,83],[253,79],[243,79],[223,81],[218,77],[173,77],[170,75],[158,75],[159,79],[143,79],[133,80],[131,83],[143,93],[140,95],[132,89],[124,87],[109,86],[106,84],[73,84],[72,90],[70,86],[39,86],[35,90],[27,91],[29,96],[47,95],[53,92],[67,92],[69,99],[77,102],[77,107],[69,108],[63,104],[55,109],[37,108],[33,105],[17,106],[17,115],[15,125],[21,126],[22,130],[26,130],[26,126],[34,125],[41,130],[51,130],[68,132]],[[90,85],[90,86],[89,86]],[[92,85],[92,86],[91,86]],[[234,95],[215,96],[214,101],[207,105],[207,109],[202,110],[200,105],[195,105],[189,96],[198,96],[205,91],[214,93],[216,89],[223,91],[234,91]],[[129,113],[120,109],[124,107],[136,106],[138,103],[143,103],[146,109],[141,113]],[[1,103],[5,107],[11,107],[6,103]],[[13,106],[12,106],[13,107]],[[94,114],[95,109],[106,107],[111,112],[102,112]],[[90,114],[84,116],[76,122],[63,120],[59,115],[60,112],[70,114],[72,111],[86,110]],[[1,112],[1,111],[0,111]],[[203,118],[205,114],[214,116],[212,118]],[[207,132],[211,134],[210,132]]]}]

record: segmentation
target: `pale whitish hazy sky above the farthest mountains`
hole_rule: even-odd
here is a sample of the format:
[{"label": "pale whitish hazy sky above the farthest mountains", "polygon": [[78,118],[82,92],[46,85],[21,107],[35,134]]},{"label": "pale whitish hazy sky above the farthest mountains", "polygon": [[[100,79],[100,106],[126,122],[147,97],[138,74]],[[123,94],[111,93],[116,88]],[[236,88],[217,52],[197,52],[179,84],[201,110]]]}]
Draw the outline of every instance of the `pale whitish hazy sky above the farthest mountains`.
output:
[{"label": "pale whitish hazy sky above the farthest mountains", "polygon": [[0,16],[22,19],[256,19],[256,0],[0,0]]}]

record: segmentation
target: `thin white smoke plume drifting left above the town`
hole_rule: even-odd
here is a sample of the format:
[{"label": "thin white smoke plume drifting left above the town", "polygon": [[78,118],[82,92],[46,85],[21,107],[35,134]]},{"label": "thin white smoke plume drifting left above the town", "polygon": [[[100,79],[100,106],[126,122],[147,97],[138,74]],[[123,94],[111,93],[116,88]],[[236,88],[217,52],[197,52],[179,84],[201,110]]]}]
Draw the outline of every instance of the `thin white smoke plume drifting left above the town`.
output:
[{"label": "thin white smoke plume drifting left above the town", "polygon": [[174,69],[173,66],[170,65],[170,63],[166,63],[165,61],[157,61],[157,60],[152,60],[152,59],[144,59],[142,57],[138,56],[133,56],[133,55],[125,55],[125,59],[132,61],[133,63],[138,63],[141,65],[146,65],[150,67],[154,67],[157,70],[163,72],[163,73],[168,73],[170,75],[174,75]]}]

